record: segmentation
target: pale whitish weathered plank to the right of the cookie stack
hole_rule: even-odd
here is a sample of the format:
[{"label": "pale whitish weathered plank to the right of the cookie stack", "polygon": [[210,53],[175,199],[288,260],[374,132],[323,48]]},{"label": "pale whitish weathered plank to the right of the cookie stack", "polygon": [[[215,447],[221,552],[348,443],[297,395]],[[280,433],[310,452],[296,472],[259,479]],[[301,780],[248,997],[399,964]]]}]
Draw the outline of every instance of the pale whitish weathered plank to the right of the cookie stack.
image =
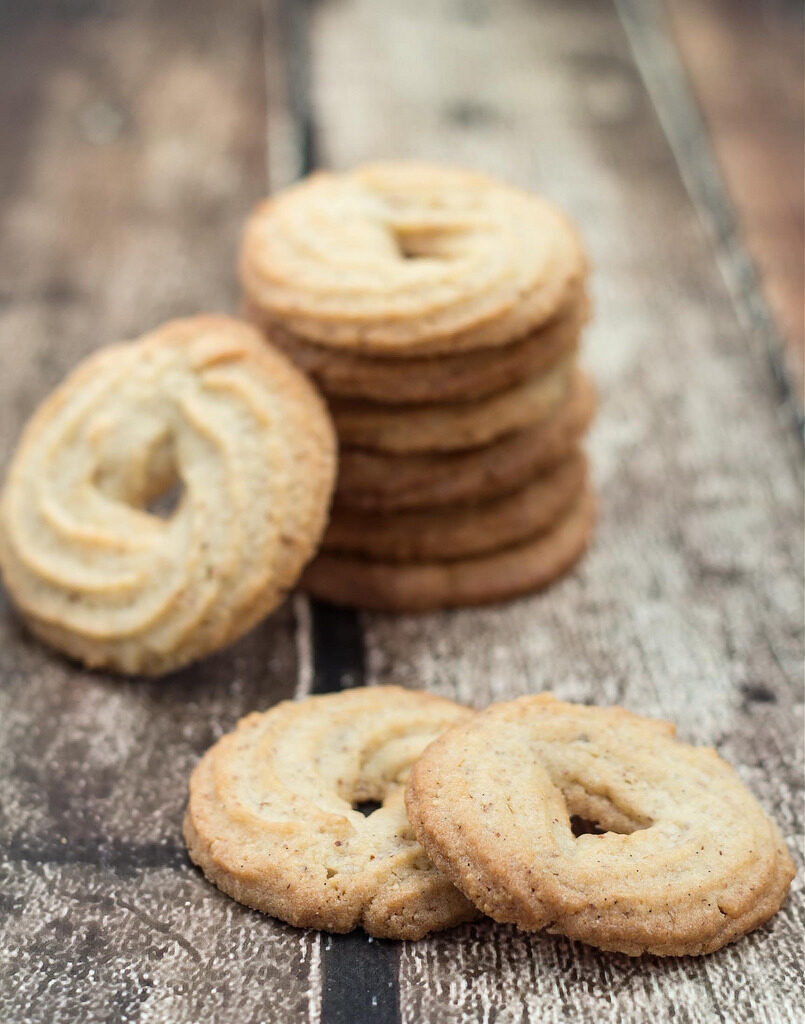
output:
[{"label": "pale whitish weathered plank to the right of the cookie stack", "polygon": [[[324,163],[435,158],[538,187],[580,221],[594,266],[592,552],[533,599],[364,616],[368,681],[477,705],[550,687],[671,718],[737,766],[801,865],[798,445],[616,12],[340,0],[314,8],[311,44]],[[798,881],[768,928],[670,963],[467,926],[405,946],[402,1019],[794,1021],[801,915]]]}]

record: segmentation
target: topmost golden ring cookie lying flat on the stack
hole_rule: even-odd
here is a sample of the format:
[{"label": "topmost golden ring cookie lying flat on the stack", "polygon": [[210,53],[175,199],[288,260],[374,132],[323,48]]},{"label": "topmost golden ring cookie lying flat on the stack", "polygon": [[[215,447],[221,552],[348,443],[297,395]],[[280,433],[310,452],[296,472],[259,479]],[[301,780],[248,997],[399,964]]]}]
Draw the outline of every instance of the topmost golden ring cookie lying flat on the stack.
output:
[{"label": "topmost golden ring cookie lying flat on the stack", "polygon": [[262,319],[322,345],[409,356],[524,337],[566,303],[585,260],[545,200],[399,162],[314,174],[265,200],[240,267]]}]

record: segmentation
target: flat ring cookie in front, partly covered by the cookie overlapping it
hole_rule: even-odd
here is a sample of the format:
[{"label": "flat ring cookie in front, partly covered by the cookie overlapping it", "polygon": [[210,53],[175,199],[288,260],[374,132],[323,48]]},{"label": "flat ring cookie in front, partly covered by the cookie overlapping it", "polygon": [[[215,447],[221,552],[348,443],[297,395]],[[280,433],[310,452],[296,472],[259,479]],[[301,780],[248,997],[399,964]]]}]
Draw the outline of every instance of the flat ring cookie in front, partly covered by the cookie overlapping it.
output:
[{"label": "flat ring cookie in front, partly covered by the cookie overlapping it", "polygon": [[[402,794],[412,764],[472,712],[396,686],[284,701],[242,719],[190,779],[192,859],[292,925],[417,939],[477,911],[428,861]],[[355,805],[380,807],[365,816]]]}]

